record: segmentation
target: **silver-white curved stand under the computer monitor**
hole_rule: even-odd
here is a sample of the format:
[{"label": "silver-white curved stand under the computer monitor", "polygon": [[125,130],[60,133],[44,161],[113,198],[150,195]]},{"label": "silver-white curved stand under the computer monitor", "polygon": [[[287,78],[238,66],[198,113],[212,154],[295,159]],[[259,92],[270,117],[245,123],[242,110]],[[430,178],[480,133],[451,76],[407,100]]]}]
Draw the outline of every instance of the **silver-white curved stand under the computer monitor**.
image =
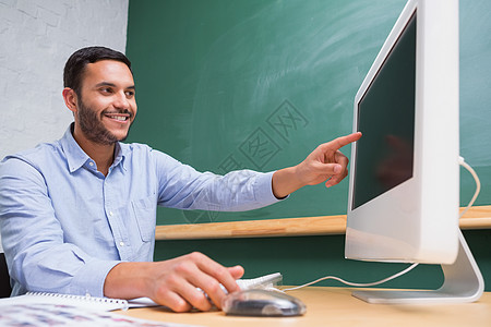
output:
[{"label": "silver-white curved stand under the computer monitor", "polygon": [[352,295],[369,303],[383,304],[463,303],[477,301],[484,291],[484,280],[460,230],[458,235],[457,259],[452,265],[442,265],[444,281],[440,289],[429,291],[356,291]]}]

